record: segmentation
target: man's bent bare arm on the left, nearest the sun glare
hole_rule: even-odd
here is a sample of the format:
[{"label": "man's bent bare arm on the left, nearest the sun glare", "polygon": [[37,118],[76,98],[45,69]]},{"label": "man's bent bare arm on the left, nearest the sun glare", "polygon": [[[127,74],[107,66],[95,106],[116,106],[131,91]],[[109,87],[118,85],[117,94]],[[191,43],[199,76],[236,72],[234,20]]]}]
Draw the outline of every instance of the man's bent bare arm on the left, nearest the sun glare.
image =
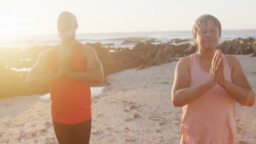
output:
[{"label": "man's bent bare arm on the left, nearest the sun glare", "polygon": [[37,86],[48,85],[50,81],[53,81],[62,75],[61,68],[58,68],[57,73],[49,74],[46,65],[47,53],[48,50],[40,53],[37,63],[34,64],[31,70],[28,72],[26,78],[26,82],[28,84]]}]

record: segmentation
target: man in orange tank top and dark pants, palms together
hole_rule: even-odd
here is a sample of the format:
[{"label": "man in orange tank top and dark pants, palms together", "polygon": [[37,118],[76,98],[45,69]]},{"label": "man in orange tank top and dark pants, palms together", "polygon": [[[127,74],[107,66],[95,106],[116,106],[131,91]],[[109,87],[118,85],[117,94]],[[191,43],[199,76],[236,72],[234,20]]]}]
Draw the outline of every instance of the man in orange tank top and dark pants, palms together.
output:
[{"label": "man in orange tank top and dark pants, palms together", "polygon": [[96,51],[75,39],[77,28],[77,18],[63,11],[57,21],[61,45],[40,53],[26,79],[33,85],[49,84],[51,116],[59,143],[89,143],[90,83],[104,80]]}]

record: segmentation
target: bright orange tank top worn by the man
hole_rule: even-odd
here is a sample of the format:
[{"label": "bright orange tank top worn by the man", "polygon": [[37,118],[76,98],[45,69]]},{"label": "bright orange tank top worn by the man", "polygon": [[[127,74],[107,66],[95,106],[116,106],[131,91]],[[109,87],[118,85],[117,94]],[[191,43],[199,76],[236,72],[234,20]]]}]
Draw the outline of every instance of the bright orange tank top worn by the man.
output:
[{"label": "bright orange tank top worn by the man", "polygon": [[[79,44],[68,59],[72,71],[87,71],[83,56],[83,44]],[[49,73],[56,73],[59,65],[57,47],[50,50],[48,57]],[[54,122],[75,124],[91,118],[90,83],[61,76],[49,83],[51,95],[51,116]]]}]

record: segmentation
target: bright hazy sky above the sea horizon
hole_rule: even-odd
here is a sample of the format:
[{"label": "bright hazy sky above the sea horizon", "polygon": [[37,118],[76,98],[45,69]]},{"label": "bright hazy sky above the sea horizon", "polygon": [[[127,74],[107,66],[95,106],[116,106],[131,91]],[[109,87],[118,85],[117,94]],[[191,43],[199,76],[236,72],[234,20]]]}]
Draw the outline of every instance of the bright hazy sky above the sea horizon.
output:
[{"label": "bright hazy sky above the sea horizon", "polygon": [[57,17],[70,11],[77,33],[187,31],[202,14],[223,29],[256,29],[254,0],[0,0],[0,37],[57,34]]}]

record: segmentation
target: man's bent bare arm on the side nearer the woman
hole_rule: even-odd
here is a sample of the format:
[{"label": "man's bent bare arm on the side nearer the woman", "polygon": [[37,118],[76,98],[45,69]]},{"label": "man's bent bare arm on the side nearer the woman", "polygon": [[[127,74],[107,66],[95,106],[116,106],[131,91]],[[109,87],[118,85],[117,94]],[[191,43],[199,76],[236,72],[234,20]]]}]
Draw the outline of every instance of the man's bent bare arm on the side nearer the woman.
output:
[{"label": "man's bent bare arm on the side nearer the woman", "polygon": [[83,48],[84,57],[86,58],[87,71],[70,71],[68,68],[63,69],[63,73],[73,79],[88,83],[101,83],[104,81],[104,73],[97,53],[92,47]]}]

